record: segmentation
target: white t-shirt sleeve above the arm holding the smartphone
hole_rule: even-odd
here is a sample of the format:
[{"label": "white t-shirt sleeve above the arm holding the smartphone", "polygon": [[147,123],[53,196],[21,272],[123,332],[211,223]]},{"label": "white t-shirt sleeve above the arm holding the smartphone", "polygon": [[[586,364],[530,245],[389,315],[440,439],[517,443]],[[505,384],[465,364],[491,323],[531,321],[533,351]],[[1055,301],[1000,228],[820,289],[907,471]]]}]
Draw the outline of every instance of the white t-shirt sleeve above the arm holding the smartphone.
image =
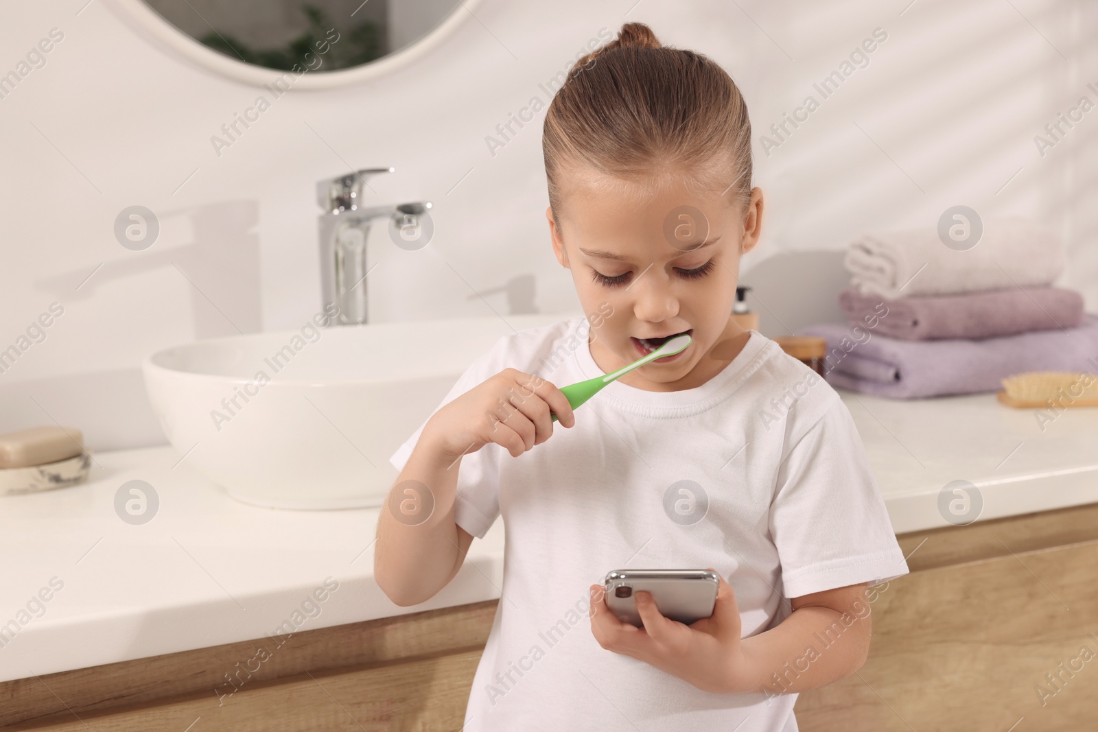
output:
[{"label": "white t-shirt sleeve above the arm holding the smartphone", "polygon": [[770,528],[786,597],[907,574],[862,439],[838,396],[782,462]]}]

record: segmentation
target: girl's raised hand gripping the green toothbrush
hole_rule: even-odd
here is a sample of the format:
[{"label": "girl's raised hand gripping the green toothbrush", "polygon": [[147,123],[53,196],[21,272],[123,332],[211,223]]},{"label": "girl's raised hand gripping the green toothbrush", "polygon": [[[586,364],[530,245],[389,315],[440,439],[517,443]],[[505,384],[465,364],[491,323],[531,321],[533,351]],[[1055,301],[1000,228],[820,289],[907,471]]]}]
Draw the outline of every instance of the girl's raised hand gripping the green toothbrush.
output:
[{"label": "girl's raised hand gripping the green toothbrush", "polygon": [[504,369],[453,399],[423,435],[450,462],[495,442],[517,458],[552,435],[552,415],[564,427],[575,417],[568,397],[545,379]]}]

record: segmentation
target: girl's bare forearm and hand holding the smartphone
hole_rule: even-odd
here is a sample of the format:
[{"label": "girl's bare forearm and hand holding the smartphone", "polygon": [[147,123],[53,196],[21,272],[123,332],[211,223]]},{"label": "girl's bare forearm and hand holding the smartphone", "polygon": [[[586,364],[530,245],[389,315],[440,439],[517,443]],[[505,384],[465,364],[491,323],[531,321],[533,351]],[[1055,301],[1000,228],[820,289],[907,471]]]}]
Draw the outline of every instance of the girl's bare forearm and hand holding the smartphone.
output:
[{"label": "girl's bare forearm and hand holding the smartphone", "polygon": [[793,612],[776,628],[744,639],[736,597],[724,577],[713,616],[690,626],[660,615],[645,592],[637,593],[645,627],[621,622],[606,607],[604,592],[591,586],[591,628],[600,645],[714,694],[818,688],[861,668],[870,650],[865,585],[796,597]]}]

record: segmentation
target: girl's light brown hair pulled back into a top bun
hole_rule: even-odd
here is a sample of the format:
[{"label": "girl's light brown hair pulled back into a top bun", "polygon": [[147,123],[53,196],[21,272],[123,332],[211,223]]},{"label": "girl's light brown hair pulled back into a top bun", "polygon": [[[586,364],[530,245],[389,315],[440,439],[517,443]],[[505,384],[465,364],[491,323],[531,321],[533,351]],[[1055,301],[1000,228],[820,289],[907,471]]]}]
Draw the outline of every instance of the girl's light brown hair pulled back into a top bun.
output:
[{"label": "girl's light brown hair pulled back into a top bun", "polygon": [[541,147],[558,228],[565,168],[641,183],[690,173],[688,184],[740,205],[751,198],[751,122],[736,82],[704,55],[661,45],[643,23],[575,63],[546,112]]}]

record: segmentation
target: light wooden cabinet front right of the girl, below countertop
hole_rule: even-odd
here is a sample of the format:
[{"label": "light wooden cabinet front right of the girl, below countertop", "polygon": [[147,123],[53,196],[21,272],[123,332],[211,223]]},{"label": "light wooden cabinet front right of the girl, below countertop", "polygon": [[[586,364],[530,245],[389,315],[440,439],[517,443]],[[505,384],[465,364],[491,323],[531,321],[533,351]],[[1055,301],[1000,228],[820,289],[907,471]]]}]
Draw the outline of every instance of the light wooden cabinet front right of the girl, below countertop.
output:
[{"label": "light wooden cabinet front right of the girl, below countertop", "polygon": [[1098,729],[1098,505],[900,545],[911,574],[873,605],[869,661],[800,695],[803,732]]}]

